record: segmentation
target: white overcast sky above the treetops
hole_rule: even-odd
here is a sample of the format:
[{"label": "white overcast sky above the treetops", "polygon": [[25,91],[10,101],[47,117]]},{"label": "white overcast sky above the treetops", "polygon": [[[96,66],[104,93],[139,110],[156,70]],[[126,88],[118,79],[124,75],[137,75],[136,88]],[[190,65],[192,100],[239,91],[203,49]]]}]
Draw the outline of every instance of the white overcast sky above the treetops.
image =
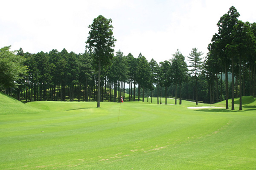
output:
[{"label": "white overcast sky above the treetops", "polygon": [[231,6],[239,20],[256,22],[254,0],[1,0],[0,48],[83,53],[93,19],[113,20],[115,52],[140,53],[157,62],[177,49],[189,56],[198,48],[206,56],[216,24]]}]

